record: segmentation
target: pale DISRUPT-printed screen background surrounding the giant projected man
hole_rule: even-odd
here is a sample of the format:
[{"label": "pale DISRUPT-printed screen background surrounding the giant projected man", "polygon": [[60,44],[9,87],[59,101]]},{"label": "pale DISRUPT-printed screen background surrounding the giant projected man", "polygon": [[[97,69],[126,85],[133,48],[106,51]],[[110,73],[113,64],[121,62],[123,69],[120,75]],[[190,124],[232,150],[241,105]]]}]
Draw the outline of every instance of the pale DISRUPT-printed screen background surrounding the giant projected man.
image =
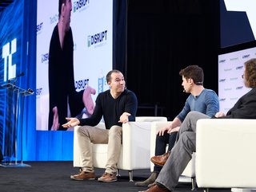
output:
[{"label": "pale DISRUPT-printed screen background surrounding the giant projected man", "polygon": [[[74,85],[99,92],[108,89],[112,69],[113,0],[72,1],[70,26],[74,39]],[[50,37],[58,23],[58,0],[38,0],[37,18],[37,130],[49,130],[48,58]]]}]

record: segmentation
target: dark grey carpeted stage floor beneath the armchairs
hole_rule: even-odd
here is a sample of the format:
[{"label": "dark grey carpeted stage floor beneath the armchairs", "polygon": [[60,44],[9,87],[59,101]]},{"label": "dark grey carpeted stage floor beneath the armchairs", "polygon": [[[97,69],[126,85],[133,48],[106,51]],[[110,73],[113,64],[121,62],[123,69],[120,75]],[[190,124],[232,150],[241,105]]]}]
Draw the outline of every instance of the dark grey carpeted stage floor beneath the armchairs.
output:
[{"label": "dark grey carpeted stage floor beneath the armchairs", "polygon": [[[1,192],[138,192],[146,187],[134,186],[134,182],[143,181],[150,175],[150,170],[134,170],[134,182],[129,182],[129,174],[121,170],[118,182],[74,181],[71,174],[77,174],[78,168],[72,162],[24,162],[30,167],[0,167]],[[104,169],[96,169],[99,177]],[[191,183],[178,183],[175,191],[191,191]],[[202,192],[202,189],[197,189]],[[228,192],[230,189],[213,189],[214,192]]]}]

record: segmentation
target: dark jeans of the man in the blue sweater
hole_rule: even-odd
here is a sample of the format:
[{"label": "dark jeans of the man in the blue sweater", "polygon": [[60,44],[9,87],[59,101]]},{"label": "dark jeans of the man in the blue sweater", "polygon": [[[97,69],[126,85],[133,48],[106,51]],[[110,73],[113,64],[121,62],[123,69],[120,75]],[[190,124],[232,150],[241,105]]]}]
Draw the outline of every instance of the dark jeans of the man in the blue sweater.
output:
[{"label": "dark jeans of the man in the blue sweater", "polygon": [[[157,138],[155,139],[155,152],[154,155],[163,155],[166,153],[166,144],[168,144],[168,151],[171,151],[171,149],[174,147],[174,143],[176,141],[176,136],[178,132],[172,132],[167,133],[165,132],[164,135],[159,136],[157,135]],[[161,166],[154,165],[154,172],[159,173],[162,169]]]}]

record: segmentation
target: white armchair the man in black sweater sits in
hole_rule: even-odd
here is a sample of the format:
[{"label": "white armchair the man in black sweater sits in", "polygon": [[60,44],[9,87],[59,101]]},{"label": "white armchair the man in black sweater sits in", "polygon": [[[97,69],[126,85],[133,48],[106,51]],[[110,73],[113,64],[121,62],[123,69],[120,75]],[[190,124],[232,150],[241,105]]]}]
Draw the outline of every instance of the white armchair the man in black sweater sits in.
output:
[{"label": "white armchair the man in black sweater sits in", "polygon": [[[150,128],[154,121],[167,121],[166,117],[136,117],[135,122],[122,124],[122,149],[118,161],[118,169],[128,170],[130,181],[133,181],[133,170],[150,169]],[[98,127],[105,128],[104,123]],[[74,167],[82,166],[78,148],[77,128],[74,127]],[[107,144],[93,144],[94,167],[105,168]],[[139,160],[138,160],[139,159]]]}]

